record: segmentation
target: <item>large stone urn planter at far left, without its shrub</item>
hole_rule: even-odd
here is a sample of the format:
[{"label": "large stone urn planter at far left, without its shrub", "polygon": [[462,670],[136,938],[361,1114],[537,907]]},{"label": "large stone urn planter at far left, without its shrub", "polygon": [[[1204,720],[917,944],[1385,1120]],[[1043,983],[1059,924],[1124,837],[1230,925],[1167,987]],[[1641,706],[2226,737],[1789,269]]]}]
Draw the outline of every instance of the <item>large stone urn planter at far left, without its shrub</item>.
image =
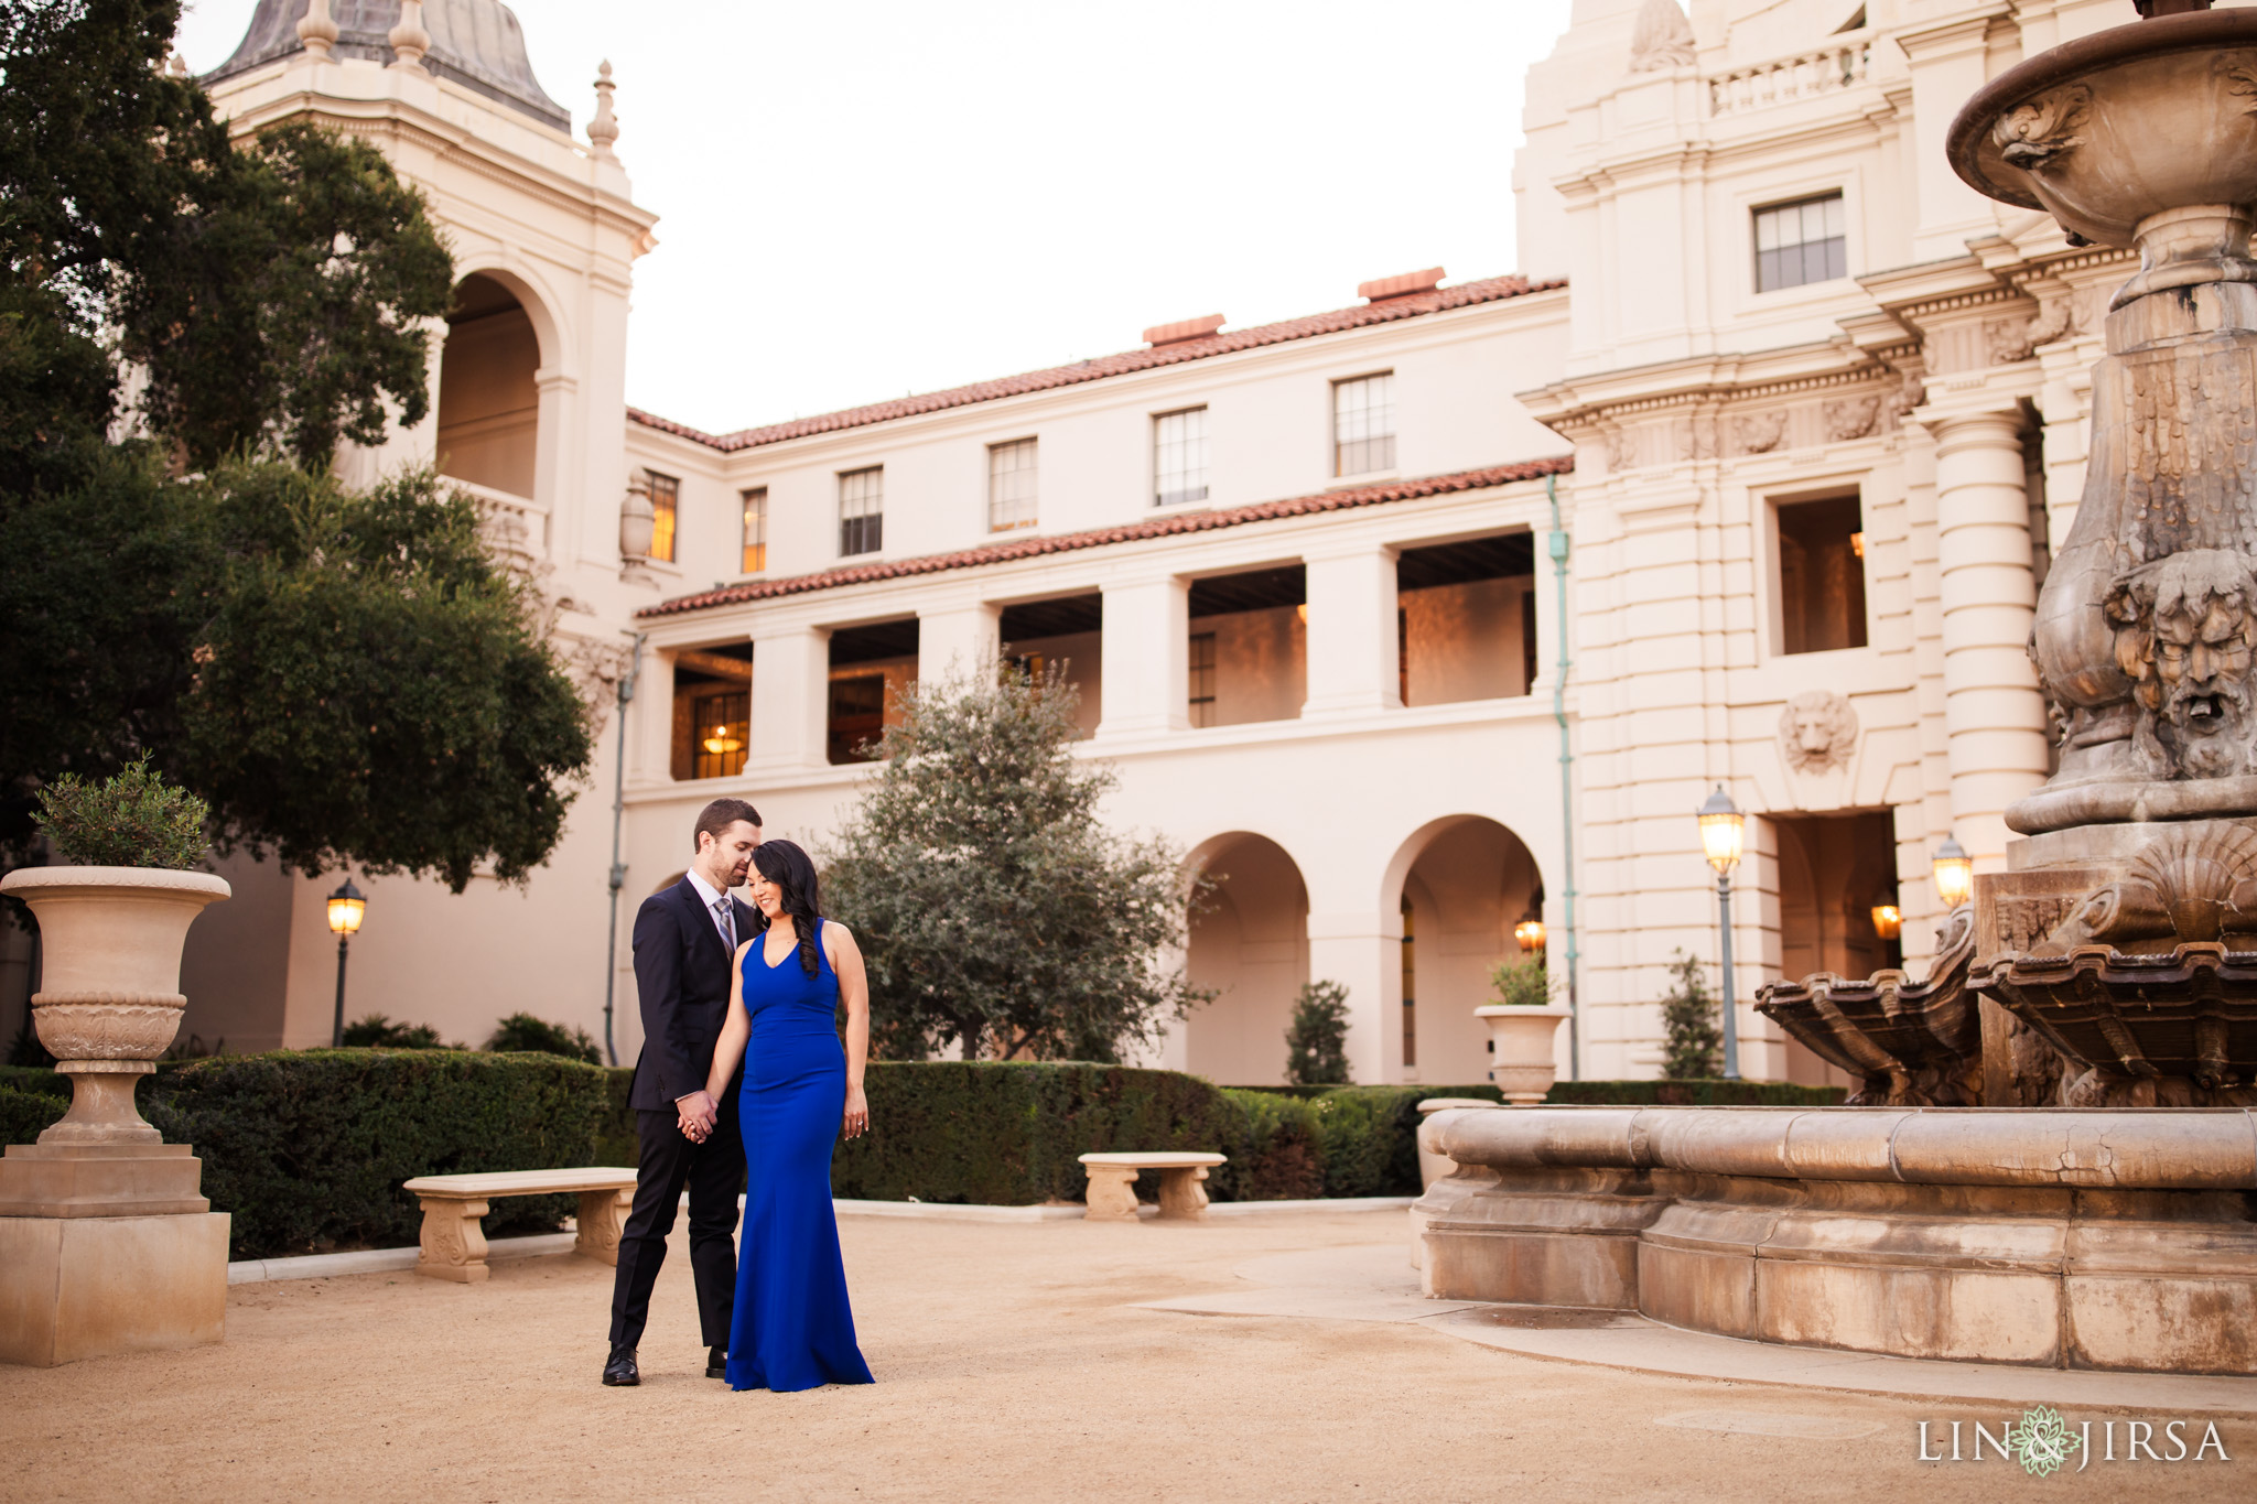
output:
[{"label": "large stone urn planter at far left, without its shrub", "polygon": [[41,990],[32,1026],[70,1076],[70,1114],[38,1136],[54,1145],[144,1145],[133,1087],[181,1033],[181,947],[223,877],[149,866],[38,866],[0,879],[38,918]]}]

